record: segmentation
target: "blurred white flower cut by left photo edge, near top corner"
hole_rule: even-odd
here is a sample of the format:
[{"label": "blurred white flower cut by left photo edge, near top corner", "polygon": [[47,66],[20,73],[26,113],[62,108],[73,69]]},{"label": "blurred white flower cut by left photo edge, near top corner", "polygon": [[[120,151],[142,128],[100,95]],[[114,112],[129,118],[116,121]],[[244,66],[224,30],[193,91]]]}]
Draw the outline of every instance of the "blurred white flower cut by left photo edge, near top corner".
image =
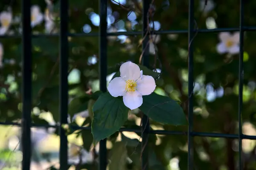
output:
[{"label": "blurred white flower cut by left photo edge, near top corner", "polygon": [[1,24],[0,35],[4,35],[8,31],[11,25],[11,22],[12,22],[12,12],[3,11],[0,13],[0,24]]}]

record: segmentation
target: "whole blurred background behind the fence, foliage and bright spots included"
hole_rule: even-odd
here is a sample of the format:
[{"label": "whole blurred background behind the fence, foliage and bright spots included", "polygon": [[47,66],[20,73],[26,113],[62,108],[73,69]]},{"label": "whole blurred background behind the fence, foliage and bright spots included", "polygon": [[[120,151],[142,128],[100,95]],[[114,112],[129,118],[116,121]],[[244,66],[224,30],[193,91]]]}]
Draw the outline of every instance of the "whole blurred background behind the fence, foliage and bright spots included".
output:
[{"label": "whole blurred background behind the fence, foliage and bright spots included", "polygon": [[[149,27],[156,31],[187,30],[188,0],[155,0]],[[58,125],[59,0],[32,0],[32,121]],[[239,28],[239,0],[195,0],[198,29]],[[256,1],[244,1],[244,25],[256,26]],[[69,110],[68,122],[89,127],[99,90],[98,0],[69,1]],[[142,0],[108,0],[108,32],[142,31]],[[0,122],[21,118],[21,1],[0,1]],[[42,36],[47,35],[47,36]],[[108,37],[108,77],[122,62],[139,63],[140,34]],[[244,88],[242,131],[256,135],[256,32],[244,32]],[[238,134],[239,36],[198,33],[194,43],[194,131]],[[161,34],[148,43],[150,66],[161,72],[155,92],[180,101],[187,114],[188,35]],[[125,127],[140,128],[141,112],[129,112]],[[3,124],[3,123],[2,123]],[[187,131],[186,126],[150,120],[153,130]],[[140,170],[141,133],[115,133],[107,141],[108,170]],[[0,126],[0,170],[20,170],[20,127]],[[29,140],[29,139],[28,139]],[[92,145],[88,130],[68,133],[70,170],[96,170],[99,144]],[[60,138],[55,128],[32,128],[32,170],[58,170]],[[186,170],[186,135],[149,135],[151,170]],[[236,170],[238,139],[194,138],[196,170]],[[256,169],[256,142],[242,140],[244,170]]]}]

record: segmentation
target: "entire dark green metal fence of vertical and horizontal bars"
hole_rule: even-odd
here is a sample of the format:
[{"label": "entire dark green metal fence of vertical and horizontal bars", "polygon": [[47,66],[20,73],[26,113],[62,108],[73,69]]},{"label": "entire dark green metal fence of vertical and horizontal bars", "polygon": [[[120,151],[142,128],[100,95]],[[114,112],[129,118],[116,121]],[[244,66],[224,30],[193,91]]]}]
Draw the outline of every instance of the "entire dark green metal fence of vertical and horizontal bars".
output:
[{"label": "entire dark green metal fence of vertical and horizontal bars", "polygon": [[[107,76],[107,36],[110,35],[143,35],[145,39],[143,40],[143,65],[149,66],[149,52],[147,42],[149,40],[147,30],[147,20],[148,20],[148,9],[150,7],[151,0],[143,0],[143,32],[115,32],[107,33],[107,0],[100,0],[99,12],[100,21],[99,33],[88,33],[88,34],[70,34],[68,33],[68,0],[60,0],[60,34],[59,35],[49,35],[49,36],[59,36],[60,38],[60,91],[59,91],[59,116],[60,125],[50,126],[59,128],[60,132],[60,169],[67,170],[67,136],[65,135],[65,130],[61,127],[62,124],[67,124],[67,108],[68,108],[68,36],[98,36],[99,37],[99,79],[100,79],[100,90],[102,92],[107,91],[106,76]],[[241,107],[242,107],[242,93],[243,93],[243,41],[244,41],[244,31],[256,30],[256,27],[245,27],[243,25],[244,21],[244,0],[240,0],[240,26],[239,28],[221,28],[221,29],[195,29],[195,19],[194,19],[194,0],[189,0],[189,28],[188,30],[169,30],[169,31],[154,31],[153,34],[180,34],[188,33],[188,44],[189,44],[189,106],[188,106],[188,120],[189,127],[187,132],[178,131],[167,131],[167,130],[149,130],[148,117],[143,115],[142,129],[145,129],[142,136],[142,146],[146,145],[146,141],[149,134],[165,134],[165,135],[187,135],[188,136],[188,170],[193,170],[193,137],[194,136],[204,136],[213,138],[237,138],[239,139],[239,170],[243,167],[243,162],[241,158],[241,141],[242,139],[253,139],[256,140],[256,136],[244,135],[241,131]],[[32,35],[32,29],[30,26],[30,6],[31,0],[22,0],[22,124],[18,123],[4,123],[5,125],[17,125],[22,127],[22,141],[21,147],[23,148],[23,161],[22,169],[30,169],[30,158],[31,158],[31,141],[28,140],[31,137],[30,128],[31,127],[45,127],[44,125],[32,124],[31,123],[31,108],[32,108],[32,43],[31,38],[41,35]],[[239,110],[237,111],[239,120],[239,134],[222,134],[222,133],[200,133],[193,132],[193,37],[195,33],[206,33],[206,32],[226,32],[226,31],[239,31],[240,32],[240,52],[239,52]],[[73,127],[74,129],[90,130],[90,127]],[[140,132],[140,130],[133,130],[127,128],[121,128],[120,131],[129,132]],[[142,161],[141,167],[143,170],[148,170],[148,149],[142,150]],[[107,167],[107,149],[106,149],[106,139],[100,141],[99,149],[99,169],[106,170]]]}]

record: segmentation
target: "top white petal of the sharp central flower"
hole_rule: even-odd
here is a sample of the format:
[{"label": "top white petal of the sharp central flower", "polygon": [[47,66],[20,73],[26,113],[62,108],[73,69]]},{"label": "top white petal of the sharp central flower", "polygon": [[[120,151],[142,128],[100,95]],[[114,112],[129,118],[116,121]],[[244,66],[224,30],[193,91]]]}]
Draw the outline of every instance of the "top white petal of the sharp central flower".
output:
[{"label": "top white petal of the sharp central flower", "polygon": [[137,81],[140,78],[140,67],[131,61],[125,62],[120,67],[120,76],[126,81]]}]

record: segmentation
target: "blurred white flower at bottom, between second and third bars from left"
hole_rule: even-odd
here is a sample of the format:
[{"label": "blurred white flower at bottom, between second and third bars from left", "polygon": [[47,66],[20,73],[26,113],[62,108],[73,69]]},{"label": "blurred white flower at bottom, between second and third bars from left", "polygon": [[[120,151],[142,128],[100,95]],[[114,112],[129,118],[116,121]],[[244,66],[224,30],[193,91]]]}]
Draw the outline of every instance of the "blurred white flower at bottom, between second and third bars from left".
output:
[{"label": "blurred white flower at bottom, between second and third bars from left", "polygon": [[93,162],[92,152],[87,152],[87,150],[76,144],[70,144],[68,150],[68,164],[86,164]]}]

